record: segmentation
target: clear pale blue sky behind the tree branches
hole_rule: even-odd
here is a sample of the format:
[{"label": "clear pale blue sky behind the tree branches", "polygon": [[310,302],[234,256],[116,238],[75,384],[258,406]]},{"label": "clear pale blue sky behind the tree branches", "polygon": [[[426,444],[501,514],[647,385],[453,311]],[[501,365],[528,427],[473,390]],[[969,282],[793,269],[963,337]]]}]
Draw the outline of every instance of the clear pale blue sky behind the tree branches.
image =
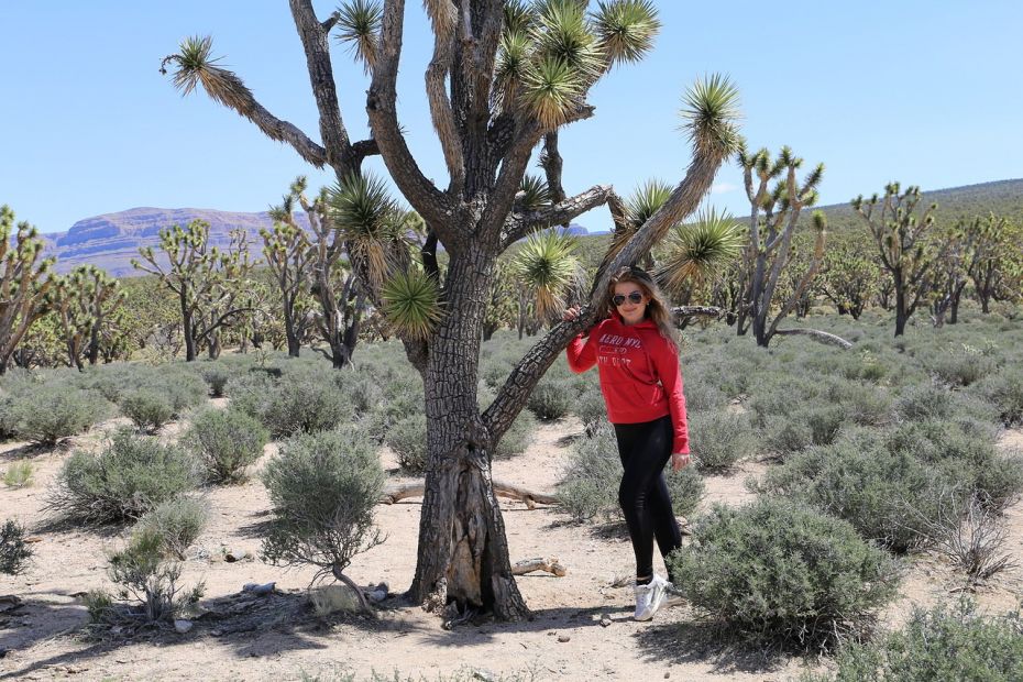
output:
[{"label": "clear pale blue sky behind the tree branches", "polygon": [[[422,94],[431,43],[420,3],[407,4],[399,111],[420,165],[440,179]],[[1023,3],[658,6],[654,52],[598,84],[596,117],[562,133],[569,191],[678,182],[689,162],[680,98],[714,72],[741,91],[750,146],[789,144],[807,166],[826,164],[822,204],[890,179],[937,189],[1023,177]],[[334,3],[316,7],[326,15]],[[157,70],[180,38],[210,34],[267,109],[318,138],[285,0],[3,0],[0,26],[0,204],[43,232],[139,206],[264,210],[298,174],[332,182],[205,94],[183,98]],[[334,67],[345,123],[365,138],[369,81],[340,46]],[[740,184],[726,167],[711,201],[748,213]],[[580,222],[606,229],[606,209]]]}]

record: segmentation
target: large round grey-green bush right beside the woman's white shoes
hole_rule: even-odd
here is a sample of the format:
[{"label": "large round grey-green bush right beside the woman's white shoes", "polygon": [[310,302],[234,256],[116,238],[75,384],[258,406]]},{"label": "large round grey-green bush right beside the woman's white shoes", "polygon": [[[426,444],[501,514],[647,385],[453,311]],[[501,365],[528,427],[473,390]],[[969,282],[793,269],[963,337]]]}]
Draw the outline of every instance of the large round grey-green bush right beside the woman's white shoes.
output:
[{"label": "large round grey-green bush right beside the woman's white shoes", "polygon": [[672,552],[704,617],[760,641],[815,648],[858,635],[897,593],[899,571],[846,521],[792,501],[716,506]]}]

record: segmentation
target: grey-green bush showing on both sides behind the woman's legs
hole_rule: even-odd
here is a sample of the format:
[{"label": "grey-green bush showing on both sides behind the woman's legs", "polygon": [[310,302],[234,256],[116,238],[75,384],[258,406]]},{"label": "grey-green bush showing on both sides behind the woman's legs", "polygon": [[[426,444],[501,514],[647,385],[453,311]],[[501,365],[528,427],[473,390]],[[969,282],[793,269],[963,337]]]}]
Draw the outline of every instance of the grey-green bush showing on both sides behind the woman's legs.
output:
[{"label": "grey-green bush showing on both sides behind the woman's legs", "polygon": [[[689,516],[704,494],[704,481],[698,469],[690,464],[681,471],[664,471],[674,513]],[[622,461],[618,443],[610,425],[601,426],[592,438],[575,441],[565,475],[558,487],[561,508],[574,521],[610,520],[622,518],[618,506],[618,485],[622,482]]]}]

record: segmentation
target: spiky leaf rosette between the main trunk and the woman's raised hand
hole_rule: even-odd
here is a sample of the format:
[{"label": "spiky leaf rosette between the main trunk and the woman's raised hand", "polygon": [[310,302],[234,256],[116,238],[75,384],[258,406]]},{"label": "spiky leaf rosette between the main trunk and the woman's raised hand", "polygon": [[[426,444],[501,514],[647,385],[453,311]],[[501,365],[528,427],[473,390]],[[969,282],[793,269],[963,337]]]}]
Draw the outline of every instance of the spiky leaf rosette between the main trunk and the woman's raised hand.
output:
[{"label": "spiky leaf rosette between the main trunk and the woman's raised hand", "polygon": [[564,306],[564,296],[576,280],[579,261],[575,239],[557,230],[530,234],[513,261],[513,272],[536,296],[541,319],[551,319]]}]

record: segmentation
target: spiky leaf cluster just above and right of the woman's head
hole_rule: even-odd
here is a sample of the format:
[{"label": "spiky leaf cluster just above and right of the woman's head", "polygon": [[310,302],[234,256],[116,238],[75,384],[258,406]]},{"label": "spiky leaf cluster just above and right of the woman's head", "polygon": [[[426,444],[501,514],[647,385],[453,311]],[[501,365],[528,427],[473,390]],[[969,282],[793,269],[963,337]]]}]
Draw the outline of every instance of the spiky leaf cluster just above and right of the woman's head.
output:
[{"label": "spiky leaf cluster just above and right of the woman's head", "polygon": [[732,215],[713,207],[703,210],[695,224],[671,229],[657,279],[671,292],[698,285],[738,256],[745,241],[744,229]]}]

